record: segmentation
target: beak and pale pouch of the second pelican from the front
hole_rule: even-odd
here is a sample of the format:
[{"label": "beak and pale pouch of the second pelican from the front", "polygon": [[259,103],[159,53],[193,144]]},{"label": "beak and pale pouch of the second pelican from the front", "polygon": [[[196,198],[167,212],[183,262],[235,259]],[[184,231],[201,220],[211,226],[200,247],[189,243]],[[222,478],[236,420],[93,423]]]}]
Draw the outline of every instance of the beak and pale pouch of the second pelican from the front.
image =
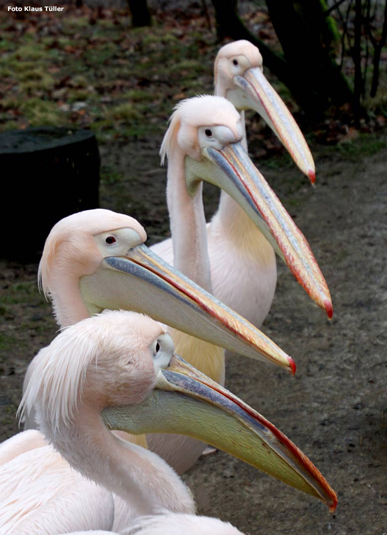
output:
[{"label": "beak and pale pouch of the second pelican from the front", "polygon": [[142,312],[216,346],[295,373],[292,358],[270,338],[143,244],[126,256],[104,258],[95,273],[81,278],[80,290],[89,310]]}]

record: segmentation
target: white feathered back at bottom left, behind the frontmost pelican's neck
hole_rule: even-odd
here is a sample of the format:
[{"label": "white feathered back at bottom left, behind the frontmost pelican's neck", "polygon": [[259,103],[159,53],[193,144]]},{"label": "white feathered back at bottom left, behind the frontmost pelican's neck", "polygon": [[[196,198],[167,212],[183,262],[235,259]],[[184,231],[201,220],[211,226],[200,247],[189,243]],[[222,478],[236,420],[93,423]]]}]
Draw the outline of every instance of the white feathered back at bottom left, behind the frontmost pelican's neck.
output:
[{"label": "white feathered back at bottom left, behind the frontmost pelican's neck", "polygon": [[3,458],[0,466],[1,533],[111,529],[115,505],[110,491],[75,472],[39,431],[23,431],[6,440],[0,455],[15,439],[23,451],[8,461]]}]

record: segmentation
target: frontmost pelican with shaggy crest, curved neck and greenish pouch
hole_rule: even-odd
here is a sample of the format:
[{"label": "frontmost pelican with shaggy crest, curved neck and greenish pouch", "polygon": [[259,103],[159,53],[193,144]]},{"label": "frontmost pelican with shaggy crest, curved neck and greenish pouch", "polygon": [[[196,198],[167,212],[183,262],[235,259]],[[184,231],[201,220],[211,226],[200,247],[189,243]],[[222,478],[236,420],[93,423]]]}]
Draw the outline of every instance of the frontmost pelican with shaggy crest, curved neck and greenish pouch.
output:
[{"label": "frontmost pelican with shaggy crest, curved neck and greenish pouch", "polygon": [[[260,414],[174,354],[166,326],[146,316],[105,310],[81,320],[37,354],[32,370],[20,415],[35,407],[40,429],[56,454],[88,480],[120,496],[132,521],[165,510],[192,515],[195,506],[165,461],[109,429],[188,433],[321,499],[331,510],[336,507],[335,492],[308,458]],[[32,458],[45,448],[28,453]],[[43,472],[44,456],[40,458]],[[60,508],[58,519],[55,499],[50,510],[44,494],[53,492],[49,478],[44,486],[36,483],[39,497],[32,486],[26,496],[20,477],[28,481],[32,473],[36,479],[36,469],[30,472],[28,463],[18,471],[19,485],[10,487],[16,470],[10,473],[9,467],[18,459],[0,468],[0,495],[6,496],[1,514],[7,520],[0,523],[2,532],[44,535],[53,532],[51,522],[55,533],[85,529],[84,524],[77,527],[73,514],[67,518],[67,508]],[[58,480],[52,482],[54,488]],[[77,494],[79,502],[84,499]],[[69,511],[71,507],[69,503]],[[44,515],[39,514],[41,508]],[[26,510],[35,511],[34,522]]]}]

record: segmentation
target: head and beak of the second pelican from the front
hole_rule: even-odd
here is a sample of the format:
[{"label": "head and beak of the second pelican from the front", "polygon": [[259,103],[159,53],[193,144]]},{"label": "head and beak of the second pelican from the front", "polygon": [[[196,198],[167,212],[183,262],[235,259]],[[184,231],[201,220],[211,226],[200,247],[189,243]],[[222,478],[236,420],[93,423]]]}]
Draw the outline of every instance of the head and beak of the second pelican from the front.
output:
[{"label": "head and beak of the second pelican from the front", "polygon": [[291,357],[155,255],[143,244],[146,238],[138,221],[110,210],[86,210],[58,221],[39,266],[39,284],[57,322],[65,327],[104,309],[134,310],[295,372]]}]

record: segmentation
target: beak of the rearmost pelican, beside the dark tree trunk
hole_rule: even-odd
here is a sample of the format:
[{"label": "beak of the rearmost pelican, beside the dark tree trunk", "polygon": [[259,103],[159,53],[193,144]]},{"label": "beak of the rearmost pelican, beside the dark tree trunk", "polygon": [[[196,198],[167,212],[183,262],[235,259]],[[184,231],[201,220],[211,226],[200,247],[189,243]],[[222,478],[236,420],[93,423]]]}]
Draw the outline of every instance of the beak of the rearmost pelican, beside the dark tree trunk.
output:
[{"label": "beak of the rearmost pelican, beside the dark tree trunk", "polygon": [[246,108],[253,109],[266,121],[282,141],[294,162],[314,184],[315,166],[309,147],[282,98],[271,87],[259,67],[249,68],[243,76],[234,77],[234,83],[247,96]]}]

